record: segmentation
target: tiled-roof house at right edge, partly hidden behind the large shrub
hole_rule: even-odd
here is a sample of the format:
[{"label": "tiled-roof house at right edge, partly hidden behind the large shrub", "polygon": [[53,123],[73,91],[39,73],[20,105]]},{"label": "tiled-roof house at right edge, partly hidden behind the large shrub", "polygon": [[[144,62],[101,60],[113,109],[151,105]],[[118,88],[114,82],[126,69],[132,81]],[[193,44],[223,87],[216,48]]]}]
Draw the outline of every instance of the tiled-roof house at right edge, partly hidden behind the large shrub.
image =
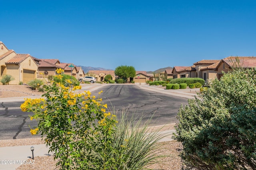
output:
[{"label": "tiled-roof house at right edge, partly hidden behind the large shrub", "polygon": [[232,67],[253,68],[256,67],[256,57],[226,57],[222,59],[214,69],[217,78],[220,79],[222,72],[232,71]]}]

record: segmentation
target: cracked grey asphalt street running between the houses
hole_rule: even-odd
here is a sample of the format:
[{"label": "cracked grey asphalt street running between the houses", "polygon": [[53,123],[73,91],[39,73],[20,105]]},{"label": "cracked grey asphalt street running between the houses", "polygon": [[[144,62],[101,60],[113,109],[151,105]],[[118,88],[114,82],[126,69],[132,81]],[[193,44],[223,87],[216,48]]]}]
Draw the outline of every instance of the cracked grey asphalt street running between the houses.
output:
[{"label": "cracked grey asphalt street running between the houses", "polygon": [[[152,117],[151,125],[164,125],[177,121],[176,115],[181,104],[186,105],[187,98],[171,96],[139,88],[135,85],[106,85],[92,92],[100,97],[102,102],[108,104],[109,111],[120,116],[124,109],[128,119],[143,117],[146,121]],[[30,127],[36,127],[35,120],[30,120],[30,112],[22,112],[22,101],[1,102],[0,104],[0,140],[37,138],[30,134]]]}]

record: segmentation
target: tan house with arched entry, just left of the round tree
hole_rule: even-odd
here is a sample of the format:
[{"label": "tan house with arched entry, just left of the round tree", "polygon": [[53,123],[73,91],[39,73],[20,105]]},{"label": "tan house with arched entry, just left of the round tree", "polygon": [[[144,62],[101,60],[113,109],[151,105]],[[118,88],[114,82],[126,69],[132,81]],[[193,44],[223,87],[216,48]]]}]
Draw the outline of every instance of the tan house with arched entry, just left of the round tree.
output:
[{"label": "tan house with arched entry, just left of the round tree", "polygon": [[110,75],[112,80],[116,80],[114,70],[89,70],[88,76],[95,77],[97,81],[103,82],[106,75]]}]

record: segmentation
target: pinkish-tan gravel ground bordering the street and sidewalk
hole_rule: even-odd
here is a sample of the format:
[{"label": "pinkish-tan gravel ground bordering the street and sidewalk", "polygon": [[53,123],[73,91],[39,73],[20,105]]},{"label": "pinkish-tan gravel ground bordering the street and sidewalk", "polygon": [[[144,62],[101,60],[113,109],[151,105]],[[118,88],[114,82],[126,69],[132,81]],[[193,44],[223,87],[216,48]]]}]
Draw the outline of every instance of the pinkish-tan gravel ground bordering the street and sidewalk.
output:
[{"label": "pinkish-tan gravel ground bordering the street and sidewalk", "polygon": [[[0,85],[0,98],[10,97],[24,97],[38,96],[40,97],[44,92],[38,92],[37,90],[31,90],[27,85]],[[159,128],[159,127],[155,127]],[[174,129],[174,124],[165,125],[162,128],[164,130]],[[14,140],[0,140],[0,147],[13,147],[27,145],[27,143],[33,145],[44,144],[41,138],[33,139],[14,139]],[[149,168],[156,170],[181,170],[182,161],[178,156],[178,150],[182,149],[181,143],[177,141],[164,142],[165,148],[160,153],[168,155],[168,157],[160,160],[159,164],[154,164]],[[24,164],[19,166],[16,170],[54,170],[56,168],[53,156],[36,156],[34,158],[35,164]]]}]

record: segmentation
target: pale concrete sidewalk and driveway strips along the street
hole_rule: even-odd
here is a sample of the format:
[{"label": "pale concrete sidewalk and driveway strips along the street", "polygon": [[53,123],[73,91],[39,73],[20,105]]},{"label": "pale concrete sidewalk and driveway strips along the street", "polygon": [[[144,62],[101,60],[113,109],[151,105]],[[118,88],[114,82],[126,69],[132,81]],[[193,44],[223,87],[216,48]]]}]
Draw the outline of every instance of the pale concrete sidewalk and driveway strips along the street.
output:
[{"label": "pale concrete sidewalk and driveway strips along the street", "polygon": [[[82,86],[81,90],[78,90],[77,92],[84,92],[89,90],[90,92],[97,90],[98,88],[108,85],[108,84],[88,84]],[[136,84],[138,87],[146,90],[151,90],[154,92],[164,93],[164,94],[170,94],[173,96],[180,96],[184,98],[194,98],[196,94],[190,93],[190,89],[179,89],[179,90],[165,90],[162,88],[159,88],[157,86],[149,86],[148,84]],[[198,89],[193,89],[198,91]],[[30,98],[38,98],[40,96],[31,96]],[[3,98],[0,99],[0,102],[8,102],[8,101],[23,101],[24,97],[21,98]],[[161,141],[171,141],[172,140],[172,133],[174,133],[175,130],[166,130],[162,131],[163,134],[168,134],[166,137],[164,137]],[[46,156],[48,154],[48,148],[46,145],[27,145],[27,146],[17,146],[17,147],[0,147],[0,169],[1,170],[15,170],[22,164],[36,164],[31,158],[32,157],[32,151],[30,150],[30,147],[34,147],[34,157],[36,156]],[[52,154],[52,153],[49,153]],[[26,160],[28,160],[26,162]]]}]

